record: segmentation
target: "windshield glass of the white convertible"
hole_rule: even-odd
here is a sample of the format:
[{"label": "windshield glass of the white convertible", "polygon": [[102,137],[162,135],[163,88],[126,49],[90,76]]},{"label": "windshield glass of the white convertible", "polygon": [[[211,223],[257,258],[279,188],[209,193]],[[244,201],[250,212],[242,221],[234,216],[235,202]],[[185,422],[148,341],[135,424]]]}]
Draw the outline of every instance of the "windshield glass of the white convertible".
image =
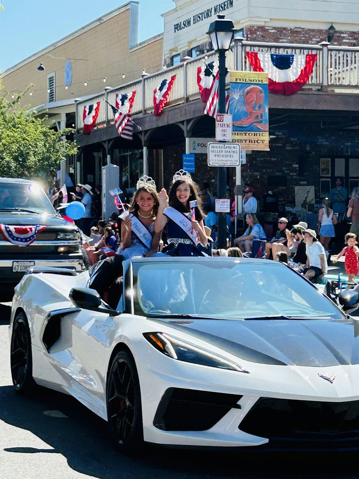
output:
[{"label": "windshield glass of the white convertible", "polygon": [[145,263],[134,300],[135,314],[147,316],[343,319],[313,285],[277,262]]}]

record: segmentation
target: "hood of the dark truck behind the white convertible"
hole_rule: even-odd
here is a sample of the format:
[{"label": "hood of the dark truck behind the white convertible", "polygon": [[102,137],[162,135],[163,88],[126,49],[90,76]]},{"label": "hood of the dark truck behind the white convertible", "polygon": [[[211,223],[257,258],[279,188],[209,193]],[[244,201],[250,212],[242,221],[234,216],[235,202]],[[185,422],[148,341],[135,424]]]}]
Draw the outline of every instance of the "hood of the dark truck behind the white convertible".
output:
[{"label": "hood of the dark truck behind the white convertible", "polygon": [[43,213],[9,213],[5,211],[0,212],[0,223],[5,225],[45,225],[53,229],[76,229],[75,225],[69,223],[65,219],[54,215]]}]

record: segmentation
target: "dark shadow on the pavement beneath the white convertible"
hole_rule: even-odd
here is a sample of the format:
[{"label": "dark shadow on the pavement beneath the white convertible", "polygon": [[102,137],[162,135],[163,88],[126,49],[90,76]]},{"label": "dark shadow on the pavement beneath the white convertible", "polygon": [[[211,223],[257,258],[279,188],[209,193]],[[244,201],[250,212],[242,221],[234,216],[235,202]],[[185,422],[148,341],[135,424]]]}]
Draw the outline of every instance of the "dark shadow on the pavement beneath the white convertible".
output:
[{"label": "dark shadow on the pavement beneath the white convertible", "polygon": [[199,478],[355,478],[354,455],[337,453],[246,454],[150,447],[139,457],[116,452],[107,423],[76,399],[45,388],[36,396],[22,397],[11,386],[0,388],[0,419],[31,431],[54,449],[9,447],[9,454],[60,453],[69,467],[91,477],[117,479]]}]

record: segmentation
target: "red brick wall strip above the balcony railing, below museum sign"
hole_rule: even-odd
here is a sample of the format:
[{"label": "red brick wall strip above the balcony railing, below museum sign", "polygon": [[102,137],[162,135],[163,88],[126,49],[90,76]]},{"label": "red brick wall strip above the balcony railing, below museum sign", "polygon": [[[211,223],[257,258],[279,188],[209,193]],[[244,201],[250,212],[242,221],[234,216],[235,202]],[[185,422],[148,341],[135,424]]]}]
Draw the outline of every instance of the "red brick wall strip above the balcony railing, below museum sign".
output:
[{"label": "red brick wall strip above the balcony railing, below museum sign", "polygon": [[[247,26],[244,28],[244,38],[249,41],[258,42],[276,42],[276,43],[309,43],[319,44],[326,42],[327,30],[312,30],[307,28],[285,28],[285,27],[265,27],[265,26]],[[359,46],[358,32],[334,32],[334,38],[331,45]]]}]

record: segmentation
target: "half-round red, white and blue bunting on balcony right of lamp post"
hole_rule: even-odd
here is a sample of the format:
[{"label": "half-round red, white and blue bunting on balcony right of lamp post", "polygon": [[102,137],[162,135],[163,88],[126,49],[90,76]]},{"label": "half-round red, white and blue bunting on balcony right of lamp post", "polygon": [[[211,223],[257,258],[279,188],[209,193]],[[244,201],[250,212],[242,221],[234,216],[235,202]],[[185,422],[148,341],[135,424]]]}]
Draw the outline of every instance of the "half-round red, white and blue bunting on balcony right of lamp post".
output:
[{"label": "half-round red, white and blue bunting on balcony right of lamp post", "polygon": [[246,52],[254,71],[268,73],[268,89],[278,95],[293,95],[309,80],[316,54],[294,55]]}]

